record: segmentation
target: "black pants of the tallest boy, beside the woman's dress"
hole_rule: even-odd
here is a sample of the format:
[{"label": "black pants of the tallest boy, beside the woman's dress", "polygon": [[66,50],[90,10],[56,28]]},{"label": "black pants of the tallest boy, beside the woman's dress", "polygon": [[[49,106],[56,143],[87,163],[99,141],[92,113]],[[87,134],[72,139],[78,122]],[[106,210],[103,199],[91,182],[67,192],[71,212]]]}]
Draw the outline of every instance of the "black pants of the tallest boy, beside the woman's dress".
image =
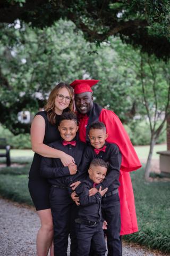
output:
[{"label": "black pants of the tallest boy, beside the woman's dress", "polygon": [[66,189],[51,187],[50,205],[54,225],[54,255],[67,256],[70,234],[70,256],[77,256],[77,239],[75,235],[75,218],[78,207],[72,201]]}]

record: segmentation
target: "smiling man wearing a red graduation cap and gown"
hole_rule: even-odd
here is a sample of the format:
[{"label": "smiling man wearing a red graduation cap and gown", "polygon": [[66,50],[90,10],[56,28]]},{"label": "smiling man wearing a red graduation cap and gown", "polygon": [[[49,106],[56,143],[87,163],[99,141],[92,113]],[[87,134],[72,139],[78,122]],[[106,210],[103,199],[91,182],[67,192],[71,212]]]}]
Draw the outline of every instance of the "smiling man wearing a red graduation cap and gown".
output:
[{"label": "smiling man wearing a red graduation cap and gown", "polygon": [[93,102],[91,86],[98,81],[75,80],[70,84],[75,93],[75,107],[79,118],[79,138],[81,141],[89,142],[89,125],[100,121],[106,126],[107,141],[115,143],[120,148],[122,153],[119,187],[121,203],[120,235],[131,234],[138,231],[138,224],[129,172],[139,169],[141,163],[120,119],[113,111],[101,108],[97,103]]}]

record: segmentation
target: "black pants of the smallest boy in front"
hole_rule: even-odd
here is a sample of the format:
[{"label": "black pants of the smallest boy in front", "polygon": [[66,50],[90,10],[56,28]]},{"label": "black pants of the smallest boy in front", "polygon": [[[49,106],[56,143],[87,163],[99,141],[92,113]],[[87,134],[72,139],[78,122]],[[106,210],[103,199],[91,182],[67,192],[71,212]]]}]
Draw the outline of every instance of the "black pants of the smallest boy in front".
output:
[{"label": "black pants of the smallest boy in front", "polygon": [[99,222],[97,226],[75,223],[75,231],[78,239],[77,256],[89,256],[91,245],[95,251],[95,255],[105,256],[106,243],[102,226],[102,222]]}]

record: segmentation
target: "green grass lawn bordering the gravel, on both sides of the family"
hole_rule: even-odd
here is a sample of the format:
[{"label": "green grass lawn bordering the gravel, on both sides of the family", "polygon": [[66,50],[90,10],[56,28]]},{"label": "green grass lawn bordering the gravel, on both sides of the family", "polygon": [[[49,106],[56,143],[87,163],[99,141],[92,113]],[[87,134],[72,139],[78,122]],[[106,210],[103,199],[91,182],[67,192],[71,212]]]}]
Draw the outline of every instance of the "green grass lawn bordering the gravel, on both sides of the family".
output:
[{"label": "green grass lawn bordering the gravel, on both sides of the family", "polygon": [[[28,191],[30,164],[0,169],[0,195],[33,205]],[[146,182],[144,170],[131,173],[139,232],[124,236],[151,249],[170,253],[169,182]]]}]

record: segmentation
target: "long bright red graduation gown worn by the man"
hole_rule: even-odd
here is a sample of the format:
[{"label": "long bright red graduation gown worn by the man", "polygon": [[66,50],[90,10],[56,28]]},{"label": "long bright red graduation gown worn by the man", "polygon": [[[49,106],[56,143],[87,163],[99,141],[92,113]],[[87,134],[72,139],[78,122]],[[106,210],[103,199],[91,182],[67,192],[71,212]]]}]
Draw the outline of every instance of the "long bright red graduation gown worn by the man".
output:
[{"label": "long bright red graduation gown worn by the man", "polygon": [[[141,163],[118,116],[111,110],[101,109],[97,118],[98,121],[103,122],[106,126],[108,133],[107,141],[116,143],[122,153],[119,187],[121,203],[121,235],[131,234],[138,231],[138,223],[129,172],[139,169]],[[86,128],[89,125],[88,121],[88,116],[84,116],[84,118],[79,120],[79,137],[80,140],[84,142],[86,142]]]}]

